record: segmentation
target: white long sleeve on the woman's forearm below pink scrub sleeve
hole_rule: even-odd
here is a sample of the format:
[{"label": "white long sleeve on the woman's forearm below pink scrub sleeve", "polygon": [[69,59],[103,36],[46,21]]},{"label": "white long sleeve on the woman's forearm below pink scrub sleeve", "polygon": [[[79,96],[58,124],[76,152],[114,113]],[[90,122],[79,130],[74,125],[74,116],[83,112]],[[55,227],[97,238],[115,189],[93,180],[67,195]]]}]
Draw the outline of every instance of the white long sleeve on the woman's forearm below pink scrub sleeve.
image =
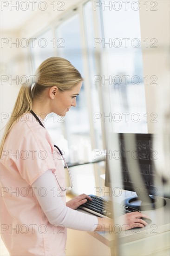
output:
[{"label": "white long sleeve on the woman's forearm below pink scrub sleeve", "polygon": [[[98,223],[97,217],[78,212],[65,205],[65,202],[61,200],[62,190],[57,186],[52,170],[47,170],[41,175],[33,183],[33,188],[35,188],[35,195],[43,212],[52,225],[94,231]],[[42,188],[45,188],[43,189],[45,196],[39,193]]]}]

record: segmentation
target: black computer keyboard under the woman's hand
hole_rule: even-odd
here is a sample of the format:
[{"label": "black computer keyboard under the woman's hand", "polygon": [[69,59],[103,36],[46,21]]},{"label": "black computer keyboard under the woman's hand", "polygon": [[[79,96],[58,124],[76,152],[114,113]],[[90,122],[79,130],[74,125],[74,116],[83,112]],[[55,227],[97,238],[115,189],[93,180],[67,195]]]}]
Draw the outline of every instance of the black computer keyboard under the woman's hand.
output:
[{"label": "black computer keyboard under the woman's hand", "polygon": [[[113,218],[111,201],[97,195],[89,196],[92,198],[92,201],[87,200],[86,203],[79,206],[80,209],[84,209],[100,217]],[[117,207],[119,216],[128,212],[139,211],[123,204],[116,203],[115,205]]]}]

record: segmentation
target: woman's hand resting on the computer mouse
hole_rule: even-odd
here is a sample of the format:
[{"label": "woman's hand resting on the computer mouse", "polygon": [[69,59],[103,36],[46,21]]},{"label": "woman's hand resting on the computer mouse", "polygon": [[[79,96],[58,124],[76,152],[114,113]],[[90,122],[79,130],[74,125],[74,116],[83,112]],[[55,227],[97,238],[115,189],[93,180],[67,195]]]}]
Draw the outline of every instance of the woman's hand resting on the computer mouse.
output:
[{"label": "woman's hand resting on the computer mouse", "polygon": [[144,226],[148,225],[148,223],[142,220],[142,217],[149,218],[148,216],[140,212],[131,212],[118,217],[117,221],[118,224],[121,225],[122,230],[128,230],[132,228],[144,228]]}]

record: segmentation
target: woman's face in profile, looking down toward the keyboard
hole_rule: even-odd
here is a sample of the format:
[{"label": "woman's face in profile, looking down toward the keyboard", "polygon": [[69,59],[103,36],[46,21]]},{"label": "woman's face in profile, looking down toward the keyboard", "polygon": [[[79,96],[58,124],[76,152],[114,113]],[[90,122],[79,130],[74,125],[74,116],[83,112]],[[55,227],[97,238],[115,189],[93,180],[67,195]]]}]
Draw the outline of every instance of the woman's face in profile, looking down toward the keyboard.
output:
[{"label": "woman's face in profile, looking down toward the keyboard", "polygon": [[51,101],[52,112],[64,116],[71,107],[76,107],[76,97],[80,93],[82,82],[79,82],[70,90],[60,91],[58,88]]}]

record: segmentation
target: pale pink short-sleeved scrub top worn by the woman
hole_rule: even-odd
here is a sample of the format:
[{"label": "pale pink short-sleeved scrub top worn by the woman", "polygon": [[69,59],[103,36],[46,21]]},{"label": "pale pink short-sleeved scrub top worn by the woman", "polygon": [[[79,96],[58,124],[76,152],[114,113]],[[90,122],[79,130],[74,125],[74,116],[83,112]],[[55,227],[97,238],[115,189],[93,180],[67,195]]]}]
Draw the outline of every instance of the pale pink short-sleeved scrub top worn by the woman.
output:
[{"label": "pale pink short-sleeved scrub top worn by the woman", "polygon": [[[1,161],[1,237],[10,255],[65,255],[66,228],[48,222],[32,184],[48,169],[65,188],[65,171],[47,130],[32,114],[13,125]],[[40,189],[45,196],[46,190]],[[65,201],[65,192],[62,192]]]}]

